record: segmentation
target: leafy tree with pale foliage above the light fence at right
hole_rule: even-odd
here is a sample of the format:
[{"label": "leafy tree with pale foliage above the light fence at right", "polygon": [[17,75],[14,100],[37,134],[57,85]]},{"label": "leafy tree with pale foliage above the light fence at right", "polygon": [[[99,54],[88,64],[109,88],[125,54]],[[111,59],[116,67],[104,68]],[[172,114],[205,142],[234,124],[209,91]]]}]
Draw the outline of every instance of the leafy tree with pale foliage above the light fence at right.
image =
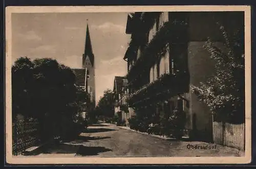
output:
[{"label": "leafy tree with pale foliage above the light fence at right", "polygon": [[242,123],[245,120],[245,67],[244,28],[229,36],[223,26],[220,31],[225,40],[227,52],[218,49],[208,39],[205,49],[215,63],[216,75],[191,89],[205,103],[218,120]]}]

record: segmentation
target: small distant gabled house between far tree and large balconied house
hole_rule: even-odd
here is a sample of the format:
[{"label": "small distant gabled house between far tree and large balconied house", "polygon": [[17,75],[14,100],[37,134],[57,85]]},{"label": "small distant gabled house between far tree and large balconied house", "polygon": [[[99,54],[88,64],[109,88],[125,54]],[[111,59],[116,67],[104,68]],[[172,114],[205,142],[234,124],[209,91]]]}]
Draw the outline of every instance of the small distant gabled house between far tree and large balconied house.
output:
[{"label": "small distant gabled house between far tree and large balconied house", "polygon": [[128,81],[125,77],[116,76],[114,79],[114,100],[115,100],[115,115],[118,115],[119,120],[127,123],[129,118],[128,107],[126,103]]}]

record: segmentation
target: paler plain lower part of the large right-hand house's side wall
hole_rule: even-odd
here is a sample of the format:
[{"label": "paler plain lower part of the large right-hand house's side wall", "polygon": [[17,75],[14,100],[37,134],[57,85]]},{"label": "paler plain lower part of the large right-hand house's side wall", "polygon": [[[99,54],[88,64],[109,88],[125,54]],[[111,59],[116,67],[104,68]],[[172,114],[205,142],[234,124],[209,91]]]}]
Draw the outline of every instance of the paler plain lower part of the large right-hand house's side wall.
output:
[{"label": "paler plain lower part of the large right-hand house's side wall", "polygon": [[[214,76],[214,62],[210,59],[208,51],[203,47],[203,41],[190,41],[188,43],[188,70],[190,75],[190,85],[198,86],[200,82],[206,82],[208,78]],[[219,48],[223,48],[222,42],[215,42]],[[209,108],[200,102],[197,96],[189,91],[184,93],[184,98],[189,102],[188,107],[184,105],[187,129],[193,130],[197,138],[211,139],[212,136],[212,115]],[[207,141],[207,140],[206,140]]]}]

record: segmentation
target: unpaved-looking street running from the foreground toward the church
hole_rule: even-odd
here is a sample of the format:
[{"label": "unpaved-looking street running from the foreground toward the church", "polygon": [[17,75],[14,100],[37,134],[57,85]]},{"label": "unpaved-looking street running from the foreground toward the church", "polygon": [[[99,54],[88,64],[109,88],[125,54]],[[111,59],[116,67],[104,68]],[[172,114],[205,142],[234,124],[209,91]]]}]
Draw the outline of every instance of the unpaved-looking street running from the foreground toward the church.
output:
[{"label": "unpaved-looking street running from the foreground toward the church", "polygon": [[[188,144],[190,145],[190,149]],[[192,149],[193,146],[214,149]],[[93,156],[93,157],[195,157],[239,156],[237,149],[205,142],[164,140],[120,127],[99,123],[91,125],[76,139],[49,148],[39,156]]]}]

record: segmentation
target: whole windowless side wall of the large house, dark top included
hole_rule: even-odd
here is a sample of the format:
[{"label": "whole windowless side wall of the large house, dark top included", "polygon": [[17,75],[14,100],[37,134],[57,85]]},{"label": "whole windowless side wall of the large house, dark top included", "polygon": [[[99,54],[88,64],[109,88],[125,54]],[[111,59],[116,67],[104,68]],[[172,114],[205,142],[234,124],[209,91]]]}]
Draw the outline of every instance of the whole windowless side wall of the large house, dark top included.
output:
[{"label": "whole windowless side wall of the large house, dark top included", "polygon": [[[243,17],[243,13],[212,13],[212,12],[193,12],[189,13],[188,27],[188,71],[190,85],[198,86],[200,82],[206,82],[208,78],[214,76],[214,62],[203,45],[209,37],[214,45],[225,51],[223,44],[224,38],[221,35],[220,26],[216,20],[224,26],[230,34],[238,27],[236,19]],[[226,21],[228,20],[228,23]],[[197,96],[189,90],[184,93],[184,98],[188,101],[183,105],[186,112],[186,128],[191,130],[191,136],[195,138],[211,141],[212,140],[212,115],[209,108],[200,102]],[[185,101],[186,102],[186,101]]]}]

